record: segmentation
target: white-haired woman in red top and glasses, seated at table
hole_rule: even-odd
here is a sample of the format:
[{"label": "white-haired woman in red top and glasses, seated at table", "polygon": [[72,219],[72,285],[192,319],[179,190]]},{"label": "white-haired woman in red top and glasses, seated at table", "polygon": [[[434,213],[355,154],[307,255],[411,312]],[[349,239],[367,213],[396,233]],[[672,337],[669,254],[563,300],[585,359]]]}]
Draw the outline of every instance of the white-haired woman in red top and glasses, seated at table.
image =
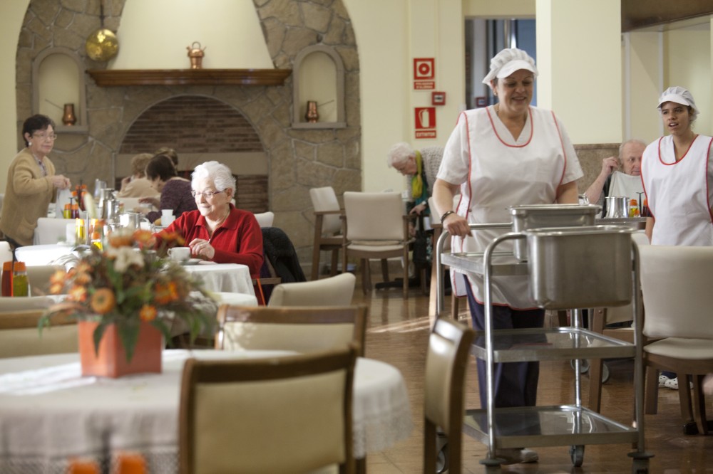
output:
[{"label": "white-haired woman in red top and glasses, seated at table", "polygon": [[230,168],[218,162],[195,167],[191,187],[198,211],[188,211],[157,234],[179,233],[190,247],[191,256],[216,263],[242,263],[253,278],[262,266],[262,231],[255,215],[230,204],[235,195],[235,178]]}]

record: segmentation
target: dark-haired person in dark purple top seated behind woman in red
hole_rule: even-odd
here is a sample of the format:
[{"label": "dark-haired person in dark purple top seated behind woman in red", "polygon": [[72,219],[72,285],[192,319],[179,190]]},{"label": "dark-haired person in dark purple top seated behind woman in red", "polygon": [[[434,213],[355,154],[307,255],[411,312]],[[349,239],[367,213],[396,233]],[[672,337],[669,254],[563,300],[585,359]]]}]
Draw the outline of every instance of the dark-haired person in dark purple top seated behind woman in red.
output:
[{"label": "dark-haired person in dark purple top seated behind woman in red", "polygon": [[[173,216],[178,217],[186,211],[198,209],[195,200],[190,194],[190,181],[178,177],[173,162],[164,154],[157,154],[146,165],[146,177],[151,181],[154,191],[161,194],[160,199],[143,197],[138,201],[151,204],[160,210],[171,209]],[[149,221],[155,222],[160,218],[161,211],[144,211]]]}]

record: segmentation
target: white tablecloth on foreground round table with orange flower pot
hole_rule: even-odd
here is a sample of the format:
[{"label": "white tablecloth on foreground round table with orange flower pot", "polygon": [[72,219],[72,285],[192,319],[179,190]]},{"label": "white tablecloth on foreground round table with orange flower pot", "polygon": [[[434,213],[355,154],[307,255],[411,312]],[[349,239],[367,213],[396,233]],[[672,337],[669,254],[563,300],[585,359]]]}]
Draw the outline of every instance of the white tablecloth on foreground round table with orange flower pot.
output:
[{"label": "white tablecloth on foreground round table with orange flower pot", "polygon": [[[82,377],[78,354],[0,359],[0,473],[65,474],[70,457],[106,460],[131,451],[145,456],[148,472],[175,474],[185,359],[284,354],[167,350],[162,374],[121,379]],[[401,373],[358,359],[353,415],[359,458],[408,437],[411,410]]]}]

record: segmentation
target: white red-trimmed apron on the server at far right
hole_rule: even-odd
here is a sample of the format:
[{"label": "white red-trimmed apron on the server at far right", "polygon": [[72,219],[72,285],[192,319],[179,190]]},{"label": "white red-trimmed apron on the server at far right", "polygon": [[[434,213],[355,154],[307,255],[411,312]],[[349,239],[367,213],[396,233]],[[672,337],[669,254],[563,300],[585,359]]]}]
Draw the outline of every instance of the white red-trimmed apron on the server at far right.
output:
[{"label": "white red-trimmed apron on the server at far right", "polygon": [[676,162],[673,137],[644,150],[641,176],[656,223],[651,243],[660,246],[713,246],[713,139],[698,135]]}]

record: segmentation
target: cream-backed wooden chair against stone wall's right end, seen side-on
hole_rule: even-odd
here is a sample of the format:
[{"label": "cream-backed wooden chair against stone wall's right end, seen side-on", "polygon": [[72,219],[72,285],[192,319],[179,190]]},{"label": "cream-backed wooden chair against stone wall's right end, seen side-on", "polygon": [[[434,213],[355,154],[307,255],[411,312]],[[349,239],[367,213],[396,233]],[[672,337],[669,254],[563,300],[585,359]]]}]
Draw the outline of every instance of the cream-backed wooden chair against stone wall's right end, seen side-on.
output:
[{"label": "cream-backed wooden chair against stone wall's right end, seen side-on", "polygon": [[[312,188],[309,198],[314,207],[314,246],[312,248],[312,280],[319,278],[319,256],[322,251],[332,253],[329,276],[337,275],[339,250],[342,248],[342,218],[344,211],[339,206],[332,186]],[[347,271],[346,269],[342,271]]]}]

